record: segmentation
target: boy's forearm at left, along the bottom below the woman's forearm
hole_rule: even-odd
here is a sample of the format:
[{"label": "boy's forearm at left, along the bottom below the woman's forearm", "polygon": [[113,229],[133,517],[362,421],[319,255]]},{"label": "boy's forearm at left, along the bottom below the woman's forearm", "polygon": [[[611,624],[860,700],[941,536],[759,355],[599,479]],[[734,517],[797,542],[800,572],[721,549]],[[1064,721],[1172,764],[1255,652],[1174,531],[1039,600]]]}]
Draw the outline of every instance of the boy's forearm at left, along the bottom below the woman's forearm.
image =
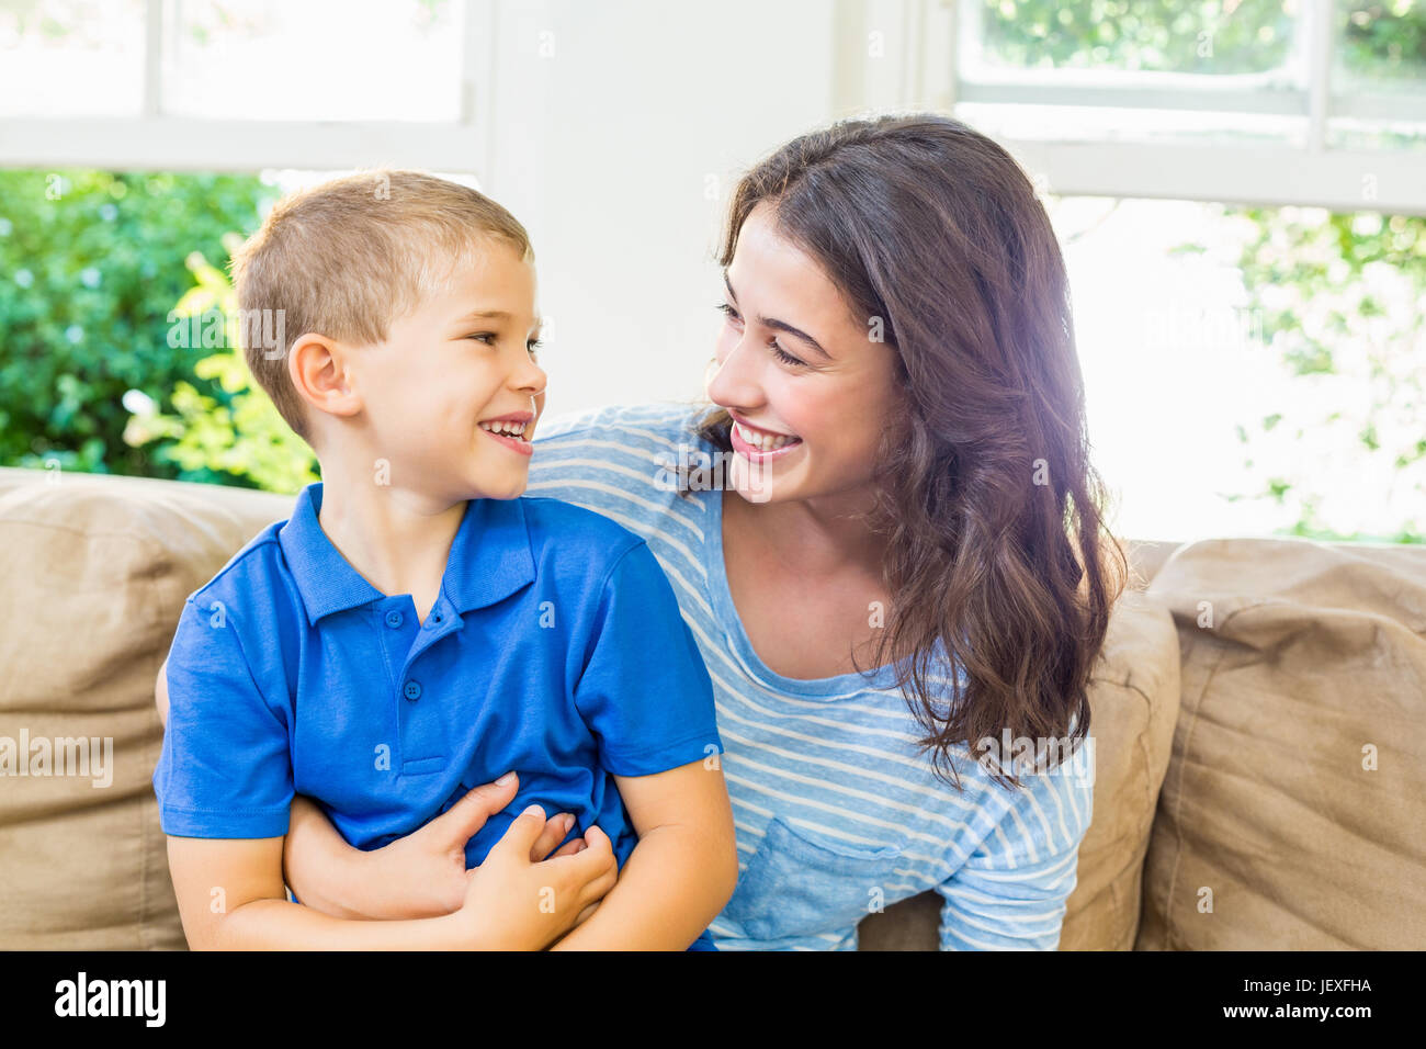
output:
[{"label": "boy's forearm at left, along the bottom below the woman's forearm", "polygon": [[[207,942],[202,942],[207,941]],[[469,951],[482,945],[455,915],[399,922],[332,918],[285,899],[255,899],[207,926],[194,949],[210,951]]]}]

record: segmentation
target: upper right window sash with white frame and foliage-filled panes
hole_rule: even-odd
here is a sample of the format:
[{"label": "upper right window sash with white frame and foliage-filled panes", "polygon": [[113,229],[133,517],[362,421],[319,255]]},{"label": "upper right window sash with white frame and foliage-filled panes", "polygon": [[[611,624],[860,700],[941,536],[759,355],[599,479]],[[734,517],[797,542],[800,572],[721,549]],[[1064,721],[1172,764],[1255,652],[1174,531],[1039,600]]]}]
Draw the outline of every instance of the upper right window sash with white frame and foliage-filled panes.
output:
[{"label": "upper right window sash with white frame and foliage-filled panes", "polygon": [[961,0],[943,103],[1065,194],[1426,213],[1420,0]]}]

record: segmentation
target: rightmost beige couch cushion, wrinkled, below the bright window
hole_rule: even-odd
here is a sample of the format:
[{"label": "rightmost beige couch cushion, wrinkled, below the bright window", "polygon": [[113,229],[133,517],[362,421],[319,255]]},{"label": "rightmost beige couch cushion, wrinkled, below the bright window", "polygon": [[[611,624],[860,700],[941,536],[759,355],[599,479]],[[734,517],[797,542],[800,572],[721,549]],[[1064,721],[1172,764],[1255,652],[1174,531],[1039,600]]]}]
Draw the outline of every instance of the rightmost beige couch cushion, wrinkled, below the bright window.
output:
[{"label": "rightmost beige couch cushion, wrinkled, below the bright window", "polygon": [[1137,946],[1426,946],[1426,548],[1211,539],[1148,592],[1184,698]]}]

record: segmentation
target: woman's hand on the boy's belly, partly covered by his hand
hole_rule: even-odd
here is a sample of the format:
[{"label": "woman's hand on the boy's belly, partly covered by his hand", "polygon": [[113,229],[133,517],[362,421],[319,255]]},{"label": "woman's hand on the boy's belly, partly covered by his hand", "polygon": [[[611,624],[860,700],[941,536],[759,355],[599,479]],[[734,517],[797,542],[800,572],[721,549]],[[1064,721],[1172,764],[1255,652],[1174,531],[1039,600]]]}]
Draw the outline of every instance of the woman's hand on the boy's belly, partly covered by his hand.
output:
[{"label": "woman's hand on the boy's belly, partly covered by his hand", "polygon": [[[389,901],[389,915],[379,916],[436,918],[462,908],[469,891],[469,875],[475,873],[466,871],[465,845],[492,815],[513,801],[519,789],[519,778],[513,772],[502,779],[508,782],[496,781],[476,786],[425,826],[371,852],[376,878],[402,896]],[[550,849],[569,833],[575,822],[568,812],[545,821],[542,811],[540,819],[542,829],[529,846],[532,863],[549,856]],[[509,831],[492,848],[492,853],[508,841]],[[585,839],[576,838],[555,855],[569,856],[582,851],[585,845]]]}]

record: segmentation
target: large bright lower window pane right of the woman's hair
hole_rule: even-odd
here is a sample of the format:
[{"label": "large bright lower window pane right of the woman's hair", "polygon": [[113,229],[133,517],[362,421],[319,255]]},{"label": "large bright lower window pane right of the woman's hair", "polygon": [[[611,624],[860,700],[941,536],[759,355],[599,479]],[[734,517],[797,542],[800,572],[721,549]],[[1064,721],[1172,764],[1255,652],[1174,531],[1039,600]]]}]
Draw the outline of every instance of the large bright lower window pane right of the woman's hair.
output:
[{"label": "large bright lower window pane right of the woman's hair", "polygon": [[1426,537],[1426,218],[1048,207],[1118,534]]}]

